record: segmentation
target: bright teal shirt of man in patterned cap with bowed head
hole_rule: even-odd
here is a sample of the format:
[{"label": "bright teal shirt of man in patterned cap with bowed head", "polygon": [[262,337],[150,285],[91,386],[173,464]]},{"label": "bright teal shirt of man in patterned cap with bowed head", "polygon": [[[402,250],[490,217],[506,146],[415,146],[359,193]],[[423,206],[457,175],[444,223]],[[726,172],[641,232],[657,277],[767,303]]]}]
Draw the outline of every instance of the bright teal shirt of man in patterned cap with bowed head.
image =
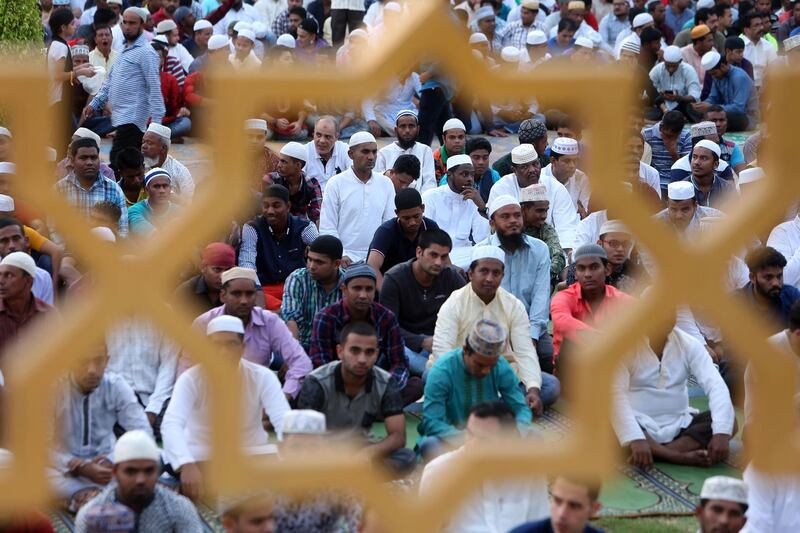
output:
[{"label": "bright teal shirt of man in patterned cap with bowed head", "polygon": [[470,408],[498,399],[514,411],[520,432],[529,432],[533,415],[508,361],[500,357],[486,377],[476,378],[467,372],[463,348],[457,348],[437,359],[428,372],[419,434],[458,440],[467,424]]}]

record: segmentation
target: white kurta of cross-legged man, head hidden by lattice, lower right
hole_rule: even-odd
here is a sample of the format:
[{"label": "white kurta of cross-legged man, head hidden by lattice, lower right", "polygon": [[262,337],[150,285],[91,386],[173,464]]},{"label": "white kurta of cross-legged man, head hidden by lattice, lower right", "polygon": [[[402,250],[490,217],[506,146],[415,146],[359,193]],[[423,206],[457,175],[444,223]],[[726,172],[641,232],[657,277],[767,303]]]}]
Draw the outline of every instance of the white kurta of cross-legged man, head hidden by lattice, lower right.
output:
[{"label": "white kurta of cross-legged man, head hidden by lattice, lower right", "polygon": [[728,387],[702,344],[673,329],[661,360],[642,343],[617,373],[612,397],[612,424],[624,446],[644,439],[644,431],[666,444],[692,421],[687,381],[693,375],[708,396],[714,434],[733,433],[734,411]]}]

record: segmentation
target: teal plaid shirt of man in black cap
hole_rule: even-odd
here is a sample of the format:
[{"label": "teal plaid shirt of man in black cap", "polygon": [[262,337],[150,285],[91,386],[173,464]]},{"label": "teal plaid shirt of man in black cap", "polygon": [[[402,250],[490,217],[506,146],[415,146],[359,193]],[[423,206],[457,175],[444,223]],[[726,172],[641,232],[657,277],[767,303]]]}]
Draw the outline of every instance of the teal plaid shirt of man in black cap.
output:
[{"label": "teal plaid shirt of man in black cap", "polygon": [[[344,269],[339,269],[341,279]],[[311,348],[311,324],[317,311],[335,304],[342,297],[341,285],[329,293],[311,278],[307,268],[298,268],[286,278],[283,285],[283,303],[281,304],[281,317],[286,321],[293,321],[300,331],[300,344],[308,352]]]}]

